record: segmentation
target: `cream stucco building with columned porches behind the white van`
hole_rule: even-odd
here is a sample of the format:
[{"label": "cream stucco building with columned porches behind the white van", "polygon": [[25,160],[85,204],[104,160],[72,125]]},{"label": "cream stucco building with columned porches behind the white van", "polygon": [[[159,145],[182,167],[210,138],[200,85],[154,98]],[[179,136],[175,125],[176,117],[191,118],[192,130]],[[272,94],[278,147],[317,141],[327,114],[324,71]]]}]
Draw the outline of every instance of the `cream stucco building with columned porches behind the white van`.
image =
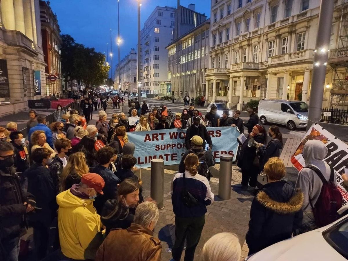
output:
[{"label": "cream stucco building with columned porches behind the white van", "polygon": [[[335,1],[330,46],[323,49],[330,50],[324,107],[335,102],[334,75],[347,72],[342,64],[332,69],[330,63],[344,60],[338,50],[347,47],[339,44],[346,2]],[[308,103],[319,7],[320,0],[212,0],[207,100],[238,104],[239,109],[251,99]]]}]

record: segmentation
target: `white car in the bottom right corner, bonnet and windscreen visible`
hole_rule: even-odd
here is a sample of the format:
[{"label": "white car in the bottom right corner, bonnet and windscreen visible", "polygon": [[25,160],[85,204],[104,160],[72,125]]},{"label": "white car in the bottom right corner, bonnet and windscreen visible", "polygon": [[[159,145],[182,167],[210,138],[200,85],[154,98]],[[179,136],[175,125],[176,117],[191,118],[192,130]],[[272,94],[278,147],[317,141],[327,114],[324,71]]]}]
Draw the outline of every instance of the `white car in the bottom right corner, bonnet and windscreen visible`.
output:
[{"label": "white car in the bottom right corner, bonnet and windscreen visible", "polygon": [[348,215],[248,256],[248,261],[343,261],[348,259]]}]

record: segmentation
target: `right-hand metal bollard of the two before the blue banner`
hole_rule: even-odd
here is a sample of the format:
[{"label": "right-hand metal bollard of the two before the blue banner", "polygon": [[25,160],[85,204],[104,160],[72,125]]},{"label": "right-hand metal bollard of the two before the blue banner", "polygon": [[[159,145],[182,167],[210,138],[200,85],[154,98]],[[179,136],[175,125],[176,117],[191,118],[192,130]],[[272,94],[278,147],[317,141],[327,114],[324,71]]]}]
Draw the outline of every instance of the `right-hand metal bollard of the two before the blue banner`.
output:
[{"label": "right-hand metal bollard of the two before the blue banner", "polygon": [[232,161],[232,155],[220,156],[219,198],[223,200],[231,198]]}]

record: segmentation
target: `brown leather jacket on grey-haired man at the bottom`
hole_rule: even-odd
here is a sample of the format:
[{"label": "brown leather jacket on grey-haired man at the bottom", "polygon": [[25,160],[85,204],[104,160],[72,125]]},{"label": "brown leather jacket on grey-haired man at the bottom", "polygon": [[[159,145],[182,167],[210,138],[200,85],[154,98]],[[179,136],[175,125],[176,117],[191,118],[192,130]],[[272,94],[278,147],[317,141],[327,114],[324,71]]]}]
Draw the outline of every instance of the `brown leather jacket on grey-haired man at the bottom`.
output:
[{"label": "brown leather jacket on grey-haired man at the bottom", "polygon": [[111,230],[99,247],[95,261],[160,261],[161,241],[153,232],[132,223],[127,229]]}]

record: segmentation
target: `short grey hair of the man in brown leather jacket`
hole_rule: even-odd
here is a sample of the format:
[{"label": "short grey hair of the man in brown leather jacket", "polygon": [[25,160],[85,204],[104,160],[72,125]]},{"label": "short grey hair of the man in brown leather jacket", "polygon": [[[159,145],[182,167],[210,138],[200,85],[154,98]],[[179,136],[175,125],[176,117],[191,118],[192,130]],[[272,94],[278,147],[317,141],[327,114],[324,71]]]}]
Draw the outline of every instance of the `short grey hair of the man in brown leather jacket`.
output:
[{"label": "short grey hair of the man in brown leather jacket", "polygon": [[155,203],[145,201],[135,209],[134,223],[143,227],[149,227],[151,222],[156,226],[159,218],[158,207]]}]

